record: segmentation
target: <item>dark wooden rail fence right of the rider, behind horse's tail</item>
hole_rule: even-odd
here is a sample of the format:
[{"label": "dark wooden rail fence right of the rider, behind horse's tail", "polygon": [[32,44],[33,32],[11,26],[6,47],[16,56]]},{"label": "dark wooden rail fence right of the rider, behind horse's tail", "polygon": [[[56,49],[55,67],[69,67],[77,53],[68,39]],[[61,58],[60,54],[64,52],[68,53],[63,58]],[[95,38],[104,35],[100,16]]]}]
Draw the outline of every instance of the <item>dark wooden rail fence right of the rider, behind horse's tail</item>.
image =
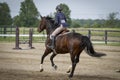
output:
[{"label": "dark wooden rail fence right of the rider, behind horse's tail", "polygon": [[119,30],[86,30],[75,29],[76,32],[83,35],[87,35],[92,41],[104,42],[119,42],[120,43],[120,31]]}]

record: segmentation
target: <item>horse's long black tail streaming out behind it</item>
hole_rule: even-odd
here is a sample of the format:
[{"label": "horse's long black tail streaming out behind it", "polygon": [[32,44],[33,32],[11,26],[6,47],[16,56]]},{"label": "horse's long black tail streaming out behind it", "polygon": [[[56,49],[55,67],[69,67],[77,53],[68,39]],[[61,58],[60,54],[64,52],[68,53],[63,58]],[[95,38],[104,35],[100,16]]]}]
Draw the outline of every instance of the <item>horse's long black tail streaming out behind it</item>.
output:
[{"label": "horse's long black tail streaming out behind it", "polygon": [[86,48],[85,48],[85,51],[88,55],[92,56],[92,57],[102,57],[102,56],[105,56],[106,54],[98,54],[97,52],[95,52],[94,48],[93,48],[93,45],[92,45],[92,42],[90,41],[90,39],[87,37],[87,36],[84,36],[85,37],[85,43],[86,43]]}]

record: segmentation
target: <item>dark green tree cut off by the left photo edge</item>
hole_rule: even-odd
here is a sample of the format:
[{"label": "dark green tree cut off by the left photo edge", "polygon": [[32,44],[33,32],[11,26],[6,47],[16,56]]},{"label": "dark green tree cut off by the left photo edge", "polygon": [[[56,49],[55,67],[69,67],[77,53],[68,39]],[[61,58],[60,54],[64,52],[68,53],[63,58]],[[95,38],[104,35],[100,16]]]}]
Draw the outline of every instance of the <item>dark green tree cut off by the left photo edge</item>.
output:
[{"label": "dark green tree cut off by the left photo edge", "polygon": [[11,25],[12,18],[7,3],[0,3],[0,25]]}]

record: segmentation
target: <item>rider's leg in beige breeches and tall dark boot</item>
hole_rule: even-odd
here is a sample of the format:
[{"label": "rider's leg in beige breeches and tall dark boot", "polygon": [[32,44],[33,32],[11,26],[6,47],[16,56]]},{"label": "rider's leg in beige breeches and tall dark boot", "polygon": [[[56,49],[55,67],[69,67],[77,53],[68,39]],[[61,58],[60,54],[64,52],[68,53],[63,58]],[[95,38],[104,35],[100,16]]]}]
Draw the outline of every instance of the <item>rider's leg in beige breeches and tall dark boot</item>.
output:
[{"label": "rider's leg in beige breeches and tall dark boot", "polygon": [[58,27],[57,29],[55,29],[55,31],[50,35],[50,39],[51,39],[51,43],[50,45],[48,45],[49,48],[54,49],[55,47],[55,36],[60,33],[62,30],[64,29],[64,27],[62,25],[60,25],[60,27]]}]

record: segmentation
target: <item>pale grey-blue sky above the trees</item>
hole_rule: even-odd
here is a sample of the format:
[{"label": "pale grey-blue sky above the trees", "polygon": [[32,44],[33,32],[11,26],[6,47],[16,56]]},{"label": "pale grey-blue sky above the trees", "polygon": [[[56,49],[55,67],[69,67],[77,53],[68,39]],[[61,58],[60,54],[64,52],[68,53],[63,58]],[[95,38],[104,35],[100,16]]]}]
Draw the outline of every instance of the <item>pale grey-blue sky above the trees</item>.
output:
[{"label": "pale grey-blue sky above the trees", "polygon": [[[8,3],[12,17],[19,14],[20,4],[24,0],[0,0]],[[118,12],[120,18],[120,0],[33,0],[42,16],[55,12],[60,3],[68,5],[71,18],[106,19],[109,13]]]}]

